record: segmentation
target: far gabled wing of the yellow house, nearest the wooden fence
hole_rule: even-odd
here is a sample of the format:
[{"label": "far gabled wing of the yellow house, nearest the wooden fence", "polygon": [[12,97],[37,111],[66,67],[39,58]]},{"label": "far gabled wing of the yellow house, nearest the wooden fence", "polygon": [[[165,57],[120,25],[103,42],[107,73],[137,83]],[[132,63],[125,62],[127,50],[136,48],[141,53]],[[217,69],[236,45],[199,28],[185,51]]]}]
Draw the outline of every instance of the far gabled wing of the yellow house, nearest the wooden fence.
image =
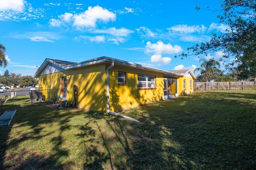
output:
[{"label": "far gabled wing of the yellow house, nearest the wooden fence", "polygon": [[191,94],[194,93],[194,80],[196,77],[190,69],[185,70],[171,70],[171,73],[179,74],[180,77],[178,79],[178,92],[179,96],[183,94]]}]

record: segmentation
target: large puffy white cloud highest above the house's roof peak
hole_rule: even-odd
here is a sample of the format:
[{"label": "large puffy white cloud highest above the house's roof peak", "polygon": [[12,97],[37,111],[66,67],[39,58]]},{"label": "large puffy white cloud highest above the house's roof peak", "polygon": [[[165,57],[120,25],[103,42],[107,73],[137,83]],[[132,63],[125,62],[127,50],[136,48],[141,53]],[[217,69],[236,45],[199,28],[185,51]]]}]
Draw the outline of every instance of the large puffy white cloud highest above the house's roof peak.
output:
[{"label": "large puffy white cloud highest above the house's roof peak", "polygon": [[94,7],[89,6],[88,10],[80,14],[75,14],[73,18],[74,18],[73,25],[78,28],[96,27],[97,21],[103,21],[103,22],[115,21],[116,14],[100,6],[94,6]]}]

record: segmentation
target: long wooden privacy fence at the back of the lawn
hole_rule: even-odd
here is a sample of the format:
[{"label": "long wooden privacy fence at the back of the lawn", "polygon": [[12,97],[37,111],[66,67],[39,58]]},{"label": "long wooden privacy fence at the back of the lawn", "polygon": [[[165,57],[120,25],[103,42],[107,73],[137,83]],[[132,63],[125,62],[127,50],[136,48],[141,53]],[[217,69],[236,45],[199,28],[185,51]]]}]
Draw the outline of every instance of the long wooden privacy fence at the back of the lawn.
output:
[{"label": "long wooden privacy fence at the back of the lawn", "polygon": [[194,90],[256,90],[256,82],[194,82]]}]

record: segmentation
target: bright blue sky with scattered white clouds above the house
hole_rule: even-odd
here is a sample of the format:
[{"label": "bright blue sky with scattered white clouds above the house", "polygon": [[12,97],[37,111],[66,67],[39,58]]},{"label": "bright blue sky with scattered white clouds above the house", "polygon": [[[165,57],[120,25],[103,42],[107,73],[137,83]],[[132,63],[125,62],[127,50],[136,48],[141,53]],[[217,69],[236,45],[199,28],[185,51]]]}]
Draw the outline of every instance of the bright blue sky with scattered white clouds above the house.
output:
[{"label": "bright blue sky with scattered white clouds above the house", "polygon": [[46,58],[81,62],[102,56],[194,71],[198,57],[174,56],[227,28],[218,12],[202,10],[220,5],[218,0],[0,0],[0,43],[9,63],[0,74],[34,76]]}]

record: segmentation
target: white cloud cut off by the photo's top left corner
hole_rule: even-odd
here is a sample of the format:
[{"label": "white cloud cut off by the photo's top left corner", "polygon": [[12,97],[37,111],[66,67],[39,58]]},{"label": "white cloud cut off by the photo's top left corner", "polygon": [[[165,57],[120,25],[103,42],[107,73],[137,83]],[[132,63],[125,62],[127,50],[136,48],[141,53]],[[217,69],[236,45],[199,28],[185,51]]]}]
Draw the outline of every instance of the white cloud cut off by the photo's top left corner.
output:
[{"label": "white cloud cut off by the photo's top left corner", "polygon": [[22,12],[25,8],[25,0],[0,0],[0,11],[12,10],[15,12]]}]

